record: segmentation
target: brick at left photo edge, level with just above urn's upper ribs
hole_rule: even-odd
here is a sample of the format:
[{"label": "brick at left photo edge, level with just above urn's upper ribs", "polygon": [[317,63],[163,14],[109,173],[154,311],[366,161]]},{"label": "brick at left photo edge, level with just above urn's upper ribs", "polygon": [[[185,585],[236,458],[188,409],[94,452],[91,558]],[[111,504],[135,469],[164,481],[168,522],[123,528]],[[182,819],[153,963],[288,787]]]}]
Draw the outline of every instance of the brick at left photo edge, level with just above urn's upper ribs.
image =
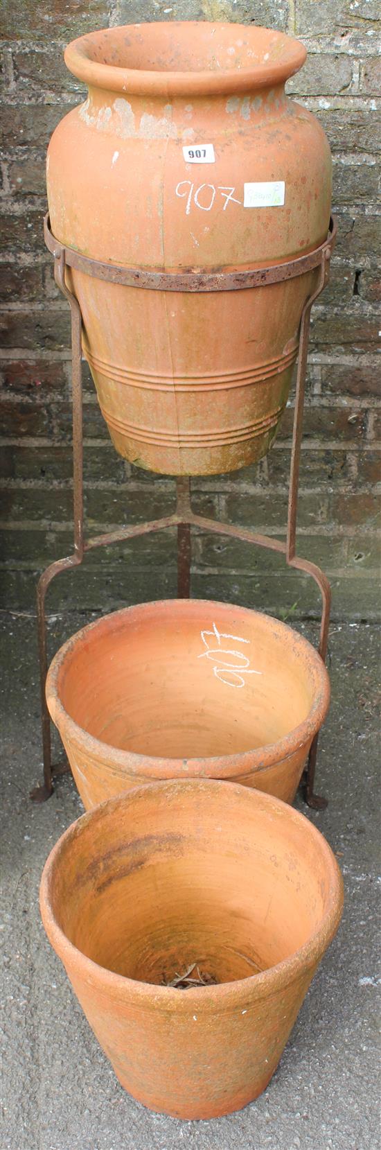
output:
[{"label": "brick at left photo edge, level with just above urn's upper ribs", "polygon": [[65,310],[2,312],[0,330],[3,347],[61,351],[70,346],[70,317]]}]

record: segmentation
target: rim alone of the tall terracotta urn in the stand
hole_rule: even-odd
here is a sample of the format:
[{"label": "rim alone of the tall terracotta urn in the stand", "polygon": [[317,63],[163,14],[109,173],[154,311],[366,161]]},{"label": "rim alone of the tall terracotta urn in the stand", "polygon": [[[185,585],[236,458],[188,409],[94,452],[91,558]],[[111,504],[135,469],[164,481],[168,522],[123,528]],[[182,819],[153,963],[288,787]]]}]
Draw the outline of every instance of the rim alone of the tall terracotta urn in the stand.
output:
[{"label": "rim alone of the tall terracotta urn in the stand", "polygon": [[[211,32],[212,30],[216,31],[216,28],[230,26],[234,36],[239,36],[241,31],[246,39],[252,37],[254,41],[256,32],[267,32],[271,41],[277,39],[279,47],[283,47],[283,59],[280,53],[277,61],[269,60],[261,64],[252,63],[248,68],[235,71],[234,69],[220,69],[219,71],[211,71],[210,69],[202,71],[160,71],[141,68],[122,68],[92,60],[92,48],[101,39],[104,41],[104,38],[107,38],[112,43],[112,39],[120,38],[123,33],[130,32],[131,34],[137,28],[139,28],[140,34],[145,34],[143,30],[147,28],[168,29],[169,25],[172,26],[172,30],[176,25],[177,34],[179,36],[179,33],[184,32],[185,38],[189,37],[192,31],[201,25],[203,30],[209,28]],[[141,24],[124,24],[118,28],[101,29],[72,40],[64,52],[67,68],[73,76],[77,76],[88,87],[120,92],[125,99],[129,94],[133,93],[164,98],[170,98],[171,95],[223,95],[225,93],[228,95],[262,87],[272,87],[273,85],[285,83],[286,79],[294,76],[302,68],[302,64],[304,64],[305,57],[306,49],[304,45],[294,37],[286,36],[285,32],[278,32],[274,29],[266,29],[261,25],[227,24],[223,22],[216,24],[209,21],[147,21]]]}]

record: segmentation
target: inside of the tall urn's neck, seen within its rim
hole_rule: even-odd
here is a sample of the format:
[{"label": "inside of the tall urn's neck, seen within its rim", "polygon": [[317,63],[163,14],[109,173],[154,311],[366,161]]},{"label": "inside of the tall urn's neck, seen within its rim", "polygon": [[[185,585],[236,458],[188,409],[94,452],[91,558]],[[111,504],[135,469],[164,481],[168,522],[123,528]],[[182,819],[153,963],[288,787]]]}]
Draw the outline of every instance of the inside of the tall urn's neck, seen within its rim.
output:
[{"label": "inside of the tall urn's neck, seen within its rim", "polygon": [[104,29],[79,44],[94,63],[141,71],[241,71],[258,64],[270,69],[295,57],[295,40],[281,32],[204,21],[178,22],[176,29],[170,22]]}]

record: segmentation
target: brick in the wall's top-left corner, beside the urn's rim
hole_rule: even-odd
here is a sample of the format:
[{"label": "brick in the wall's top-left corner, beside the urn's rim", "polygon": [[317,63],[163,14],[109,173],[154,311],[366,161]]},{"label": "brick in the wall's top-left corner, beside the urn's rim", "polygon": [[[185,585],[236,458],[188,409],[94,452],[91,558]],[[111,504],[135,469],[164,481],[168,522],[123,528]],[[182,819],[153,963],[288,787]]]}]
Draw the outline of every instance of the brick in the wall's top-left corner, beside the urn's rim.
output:
[{"label": "brick in the wall's top-left corner, beside the urn's rim", "polygon": [[65,0],[54,8],[46,0],[3,0],[5,34],[9,40],[36,40],[44,32],[75,39],[96,28],[104,28],[109,21],[109,3],[104,0]]}]

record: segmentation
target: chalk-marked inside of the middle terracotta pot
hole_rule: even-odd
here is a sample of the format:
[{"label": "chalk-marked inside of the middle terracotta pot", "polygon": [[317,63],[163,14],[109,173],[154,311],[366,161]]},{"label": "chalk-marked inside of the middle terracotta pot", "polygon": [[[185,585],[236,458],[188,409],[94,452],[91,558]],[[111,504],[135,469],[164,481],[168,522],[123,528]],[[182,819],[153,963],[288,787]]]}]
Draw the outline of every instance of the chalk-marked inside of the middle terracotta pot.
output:
[{"label": "chalk-marked inside of the middle terracotta pot", "polygon": [[108,615],[75,636],[56,690],[70,718],[102,743],[184,760],[277,743],[319,703],[326,670],[274,619],[165,600]]}]

